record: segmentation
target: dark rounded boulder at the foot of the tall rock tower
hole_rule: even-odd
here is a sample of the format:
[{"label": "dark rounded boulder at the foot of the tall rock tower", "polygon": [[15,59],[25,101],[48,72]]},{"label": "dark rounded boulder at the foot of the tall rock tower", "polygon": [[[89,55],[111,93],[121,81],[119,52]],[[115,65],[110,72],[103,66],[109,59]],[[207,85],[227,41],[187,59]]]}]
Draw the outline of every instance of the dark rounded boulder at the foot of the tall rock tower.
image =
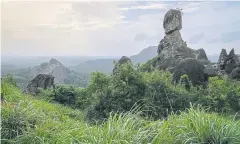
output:
[{"label": "dark rounded boulder at the foot of the tall rock tower", "polygon": [[196,59],[185,59],[174,68],[172,83],[180,82],[181,76],[187,75],[193,86],[203,85],[207,82],[204,73],[205,66]]}]

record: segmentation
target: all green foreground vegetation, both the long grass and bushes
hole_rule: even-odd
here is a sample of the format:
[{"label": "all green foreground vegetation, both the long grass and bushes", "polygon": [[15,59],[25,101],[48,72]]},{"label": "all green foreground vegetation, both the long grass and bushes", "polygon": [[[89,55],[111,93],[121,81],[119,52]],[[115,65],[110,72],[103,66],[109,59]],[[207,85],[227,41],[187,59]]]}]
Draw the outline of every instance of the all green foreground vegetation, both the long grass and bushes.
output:
[{"label": "all green foreground vegetation, both the long grass and bushes", "polygon": [[91,74],[86,88],[68,85],[22,95],[3,78],[2,143],[240,143],[240,82],[214,77],[208,88],[187,76],[131,63],[112,75]]}]

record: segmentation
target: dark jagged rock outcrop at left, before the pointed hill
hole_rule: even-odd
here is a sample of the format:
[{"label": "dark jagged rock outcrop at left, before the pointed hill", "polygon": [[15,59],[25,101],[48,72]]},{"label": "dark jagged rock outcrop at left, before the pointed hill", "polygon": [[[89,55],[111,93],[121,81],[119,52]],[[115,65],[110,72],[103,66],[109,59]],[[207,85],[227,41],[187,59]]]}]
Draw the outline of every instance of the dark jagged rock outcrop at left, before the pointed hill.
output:
[{"label": "dark jagged rock outcrop at left, before the pointed hill", "polygon": [[54,88],[54,77],[47,74],[37,75],[26,87],[24,93],[36,95],[39,88],[48,89]]}]

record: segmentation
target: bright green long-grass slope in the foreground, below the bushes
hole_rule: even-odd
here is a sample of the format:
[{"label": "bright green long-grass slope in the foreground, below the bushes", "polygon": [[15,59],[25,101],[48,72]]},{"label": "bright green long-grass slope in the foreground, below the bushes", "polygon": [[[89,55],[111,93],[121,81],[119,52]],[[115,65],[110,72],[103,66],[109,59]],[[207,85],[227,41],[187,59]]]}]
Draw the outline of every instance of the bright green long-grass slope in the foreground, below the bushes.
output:
[{"label": "bright green long-grass slope in the foreground, below the bushes", "polygon": [[129,112],[88,125],[79,110],[22,96],[9,84],[3,83],[2,90],[6,100],[1,105],[2,143],[240,143],[239,121],[201,109],[165,121],[149,121]]}]

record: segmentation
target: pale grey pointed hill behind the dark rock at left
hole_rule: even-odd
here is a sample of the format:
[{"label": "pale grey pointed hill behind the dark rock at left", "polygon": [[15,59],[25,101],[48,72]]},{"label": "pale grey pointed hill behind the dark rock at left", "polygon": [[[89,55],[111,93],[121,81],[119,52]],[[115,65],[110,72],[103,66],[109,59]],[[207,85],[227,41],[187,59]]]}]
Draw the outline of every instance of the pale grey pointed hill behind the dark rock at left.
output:
[{"label": "pale grey pointed hill behind the dark rock at left", "polygon": [[88,74],[79,74],[70,70],[53,58],[49,62],[44,62],[38,66],[17,69],[10,73],[21,88],[25,88],[38,74],[50,74],[54,76],[54,82],[56,84],[71,84],[80,87],[85,87],[87,85],[89,76]]}]

